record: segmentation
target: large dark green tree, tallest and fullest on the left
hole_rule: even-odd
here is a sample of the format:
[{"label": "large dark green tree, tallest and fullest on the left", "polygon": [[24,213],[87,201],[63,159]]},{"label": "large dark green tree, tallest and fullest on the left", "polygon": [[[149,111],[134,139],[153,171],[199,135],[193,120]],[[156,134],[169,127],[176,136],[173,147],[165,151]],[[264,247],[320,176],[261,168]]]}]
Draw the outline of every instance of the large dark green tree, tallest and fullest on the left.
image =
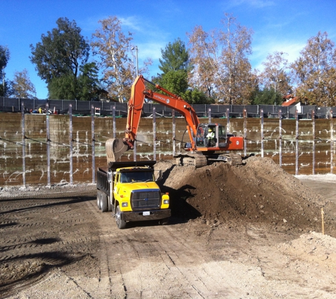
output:
[{"label": "large dark green tree, tallest and fullest on the left", "polygon": [[68,95],[67,98],[76,99],[79,94],[79,68],[88,61],[90,46],[75,21],[59,18],[56,23],[57,28],[41,35],[40,43],[35,47],[30,45],[30,61],[36,65],[40,78],[48,84],[52,98],[55,86],[58,86],[62,94]]}]

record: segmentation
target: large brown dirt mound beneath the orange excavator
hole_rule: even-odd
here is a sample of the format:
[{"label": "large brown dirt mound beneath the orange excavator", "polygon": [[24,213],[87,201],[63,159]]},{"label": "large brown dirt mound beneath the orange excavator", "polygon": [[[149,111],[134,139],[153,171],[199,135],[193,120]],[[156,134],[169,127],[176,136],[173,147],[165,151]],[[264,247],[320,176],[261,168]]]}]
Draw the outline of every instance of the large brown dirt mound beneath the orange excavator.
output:
[{"label": "large brown dirt mound beneath the orange excavator", "polygon": [[187,219],[320,231],[320,209],[332,205],[270,158],[250,157],[240,167],[216,163],[199,169],[158,162],[156,169],[164,171],[161,184],[170,193],[173,215]]}]

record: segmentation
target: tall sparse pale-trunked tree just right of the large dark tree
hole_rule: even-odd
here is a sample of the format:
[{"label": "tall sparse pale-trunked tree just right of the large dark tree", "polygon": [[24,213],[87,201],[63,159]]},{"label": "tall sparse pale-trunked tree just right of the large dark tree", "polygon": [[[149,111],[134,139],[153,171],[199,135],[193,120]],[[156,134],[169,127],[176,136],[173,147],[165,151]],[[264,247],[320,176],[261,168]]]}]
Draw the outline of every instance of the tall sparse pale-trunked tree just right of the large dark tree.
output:
[{"label": "tall sparse pale-trunked tree just right of the large dark tree", "polygon": [[[93,33],[91,47],[98,55],[98,65],[103,69],[103,81],[108,85],[111,98],[123,102],[129,98],[132,82],[136,75],[132,49],[132,33],[122,32],[121,21],[110,16],[99,21],[101,28]],[[146,72],[151,61],[146,61],[139,72]]]}]

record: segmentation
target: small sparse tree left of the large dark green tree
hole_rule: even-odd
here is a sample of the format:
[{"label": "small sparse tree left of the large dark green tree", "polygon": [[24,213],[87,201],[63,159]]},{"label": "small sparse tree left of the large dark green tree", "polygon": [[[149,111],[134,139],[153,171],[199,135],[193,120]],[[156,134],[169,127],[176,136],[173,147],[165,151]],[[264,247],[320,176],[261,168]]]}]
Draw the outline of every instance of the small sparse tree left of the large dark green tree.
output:
[{"label": "small sparse tree left of the large dark green tree", "polygon": [[13,97],[36,98],[35,86],[30,81],[27,69],[23,69],[22,72],[15,72],[12,89]]}]

